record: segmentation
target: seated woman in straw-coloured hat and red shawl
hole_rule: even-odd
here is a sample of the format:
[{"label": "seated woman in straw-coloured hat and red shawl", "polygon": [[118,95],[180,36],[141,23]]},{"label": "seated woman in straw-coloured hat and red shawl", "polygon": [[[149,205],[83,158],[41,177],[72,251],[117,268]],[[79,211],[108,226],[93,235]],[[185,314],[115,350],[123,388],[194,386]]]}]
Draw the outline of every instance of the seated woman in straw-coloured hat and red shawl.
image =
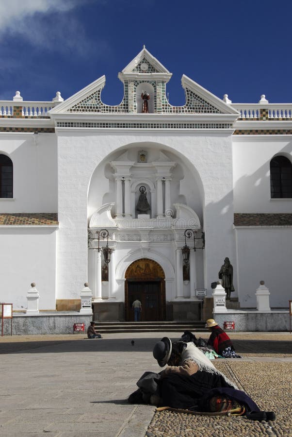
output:
[{"label": "seated woman in straw-coloured hat and red shawl", "polygon": [[223,356],[223,358],[242,358],[235,353],[232,341],[214,319],[208,319],[205,328],[211,331],[211,336],[207,344],[210,345],[216,353]]}]

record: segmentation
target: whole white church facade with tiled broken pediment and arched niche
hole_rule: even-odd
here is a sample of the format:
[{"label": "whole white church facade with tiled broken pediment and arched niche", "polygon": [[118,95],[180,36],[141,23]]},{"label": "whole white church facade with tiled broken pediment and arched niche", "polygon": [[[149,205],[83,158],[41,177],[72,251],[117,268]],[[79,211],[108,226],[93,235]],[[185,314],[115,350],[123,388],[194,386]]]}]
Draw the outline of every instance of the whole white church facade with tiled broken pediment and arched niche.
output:
[{"label": "whole white church facade with tiled broken pediment and arched niche", "polygon": [[65,101],[0,101],[0,302],[25,311],[35,282],[40,311],[78,311],[88,282],[96,320],[132,320],[136,297],[142,320],[199,319],[196,289],[211,297],[228,257],[241,308],[260,280],[288,307],[292,104],[183,76],[172,106],[171,75],[143,48],[119,105],[104,76]]}]

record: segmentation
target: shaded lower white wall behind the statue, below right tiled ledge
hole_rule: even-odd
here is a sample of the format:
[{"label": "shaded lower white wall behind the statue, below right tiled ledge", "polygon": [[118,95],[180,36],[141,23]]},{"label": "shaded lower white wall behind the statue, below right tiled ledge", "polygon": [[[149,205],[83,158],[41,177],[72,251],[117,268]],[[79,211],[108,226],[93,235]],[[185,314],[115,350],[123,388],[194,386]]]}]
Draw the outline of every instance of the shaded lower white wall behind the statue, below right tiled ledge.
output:
[{"label": "shaded lower white wall behind the statue, below right tiled ledge", "polygon": [[271,293],[270,306],[287,308],[291,300],[291,226],[239,227],[236,234],[241,307],[257,306],[255,293],[263,280]]}]

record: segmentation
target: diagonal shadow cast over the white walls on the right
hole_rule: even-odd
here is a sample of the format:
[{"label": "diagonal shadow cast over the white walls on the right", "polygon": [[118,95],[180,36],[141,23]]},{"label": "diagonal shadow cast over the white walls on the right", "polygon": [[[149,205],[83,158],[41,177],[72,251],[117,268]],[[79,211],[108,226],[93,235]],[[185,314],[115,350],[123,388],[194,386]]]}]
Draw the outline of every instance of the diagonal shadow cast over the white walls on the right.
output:
[{"label": "diagonal shadow cast over the white walls on the right", "polygon": [[[255,172],[250,175],[245,174],[236,181],[234,186],[235,213],[292,214],[292,201],[270,200],[270,160],[275,155],[290,156],[290,160],[292,160],[291,150],[292,142],[289,142],[281,151],[271,152],[269,160],[265,161]],[[209,217],[215,215],[217,218],[217,232],[220,229],[220,221],[226,228],[224,221],[229,219],[228,212],[232,208],[232,193],[228,193],[220,202],[210,203],[206,207],[205,214]],[[219,217],[218,211],[220,212]],[[225,256],[228,256],[234,269],[235,292],[231,293],[231,297],[238,294],[241,307],[256,307],[256,289],[260,285],[260,280],[264,280],[271,293],[271,307],[286,308],[291,288],[291,229],[283,226],[281,228],[253,226],[243,229],[243,227],[237,226],[234,231],[232,223],[228,228],[230,233],[234,235],[234,248],[231,253],[228,253],[227,247],[218,247],[215,244],[212,246],[213,255],[215,252],[215,258],[218,259],[217,267],[213,266],[213,271],[211,271],[214,281],[218,277],[218,271]],[[211,233],[206,228],[205,233],[206,246],[208,246]],[[235,233],[237,233],[237,243]]]}]

